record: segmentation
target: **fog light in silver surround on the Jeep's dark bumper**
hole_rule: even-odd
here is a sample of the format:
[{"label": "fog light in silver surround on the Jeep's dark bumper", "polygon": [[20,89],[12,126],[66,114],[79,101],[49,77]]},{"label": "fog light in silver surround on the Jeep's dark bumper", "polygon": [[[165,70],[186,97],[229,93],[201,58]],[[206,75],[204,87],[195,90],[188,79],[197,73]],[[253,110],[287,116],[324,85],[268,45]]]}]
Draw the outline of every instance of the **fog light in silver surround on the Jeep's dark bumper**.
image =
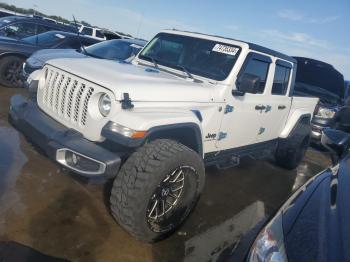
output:
[{"label": "fog light in silver surround on the Jeep's dark bumper", "polygon": [[62,165],[86,175],[103,174],[106,169],[105,163],[69,149],[57,150],[56,160]]}]

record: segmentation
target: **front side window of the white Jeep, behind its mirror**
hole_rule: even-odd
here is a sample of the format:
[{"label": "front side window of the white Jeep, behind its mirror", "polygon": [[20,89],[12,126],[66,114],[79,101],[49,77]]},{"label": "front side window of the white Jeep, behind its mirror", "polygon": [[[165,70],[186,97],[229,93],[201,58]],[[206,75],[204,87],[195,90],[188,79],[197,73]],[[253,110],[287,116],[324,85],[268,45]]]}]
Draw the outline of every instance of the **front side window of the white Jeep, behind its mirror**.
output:
[{"label": "front side window of the white Jeep, behind its mirror", "polygon": [[260,78],[258,94],[264,93],[269,66],[270,63],[253,58],[248,61],[244,71],[241,73],[241,75],[250,74]]}]

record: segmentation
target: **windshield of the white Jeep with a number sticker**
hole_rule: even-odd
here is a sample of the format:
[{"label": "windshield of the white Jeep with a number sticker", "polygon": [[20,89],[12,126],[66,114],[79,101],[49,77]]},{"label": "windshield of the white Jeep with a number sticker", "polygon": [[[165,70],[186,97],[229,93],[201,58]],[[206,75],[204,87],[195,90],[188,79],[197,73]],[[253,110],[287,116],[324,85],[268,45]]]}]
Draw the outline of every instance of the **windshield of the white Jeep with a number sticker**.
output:
[{"label": "windshield of the white Jeep with a number sticker", "polygon": [[189,36],[160,33],[139,58],[216,81],[225,80],[240,48]]}]

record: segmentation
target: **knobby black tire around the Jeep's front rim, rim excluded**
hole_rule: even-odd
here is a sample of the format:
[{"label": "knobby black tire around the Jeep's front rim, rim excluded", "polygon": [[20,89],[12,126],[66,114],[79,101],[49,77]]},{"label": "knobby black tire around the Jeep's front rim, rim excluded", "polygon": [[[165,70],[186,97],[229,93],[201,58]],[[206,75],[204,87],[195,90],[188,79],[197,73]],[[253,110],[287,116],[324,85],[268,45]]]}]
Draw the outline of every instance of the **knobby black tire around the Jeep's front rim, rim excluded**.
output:
[{"label": "knobby black tire around the Jeep's front rim, rim excluded", "polygon": [[[175,209],[170,213],[172,226],[165,231],[154,231],[146,215],[150,200],[159,184],[180,166],[194,170],[184,176],[184,185],[186,180],[191,183],[187,184],[188,188],[176,204],[178,211]],[[205,169],[198,153],[173,140],[154,140],[139,148],[121,167],[111,190],[111,213],[131,235],[145,242],[154,242],[169,235],[185,220],[197,203],[204,183]],[[181,217],[180,213],[183,213]]]}]

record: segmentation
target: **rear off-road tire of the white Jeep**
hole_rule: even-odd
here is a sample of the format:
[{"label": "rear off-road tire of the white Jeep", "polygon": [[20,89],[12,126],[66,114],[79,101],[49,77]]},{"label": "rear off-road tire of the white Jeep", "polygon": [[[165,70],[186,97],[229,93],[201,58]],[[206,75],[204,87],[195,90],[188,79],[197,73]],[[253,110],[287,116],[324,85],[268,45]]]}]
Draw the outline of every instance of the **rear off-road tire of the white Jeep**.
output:
[{"label": "rear off-road tire of the white Jeep", "polygon": [[303,160],[309,143],[309,136],[298,140],[280,140],[275,155],[277,165],[289,170],[295,169]]}]

